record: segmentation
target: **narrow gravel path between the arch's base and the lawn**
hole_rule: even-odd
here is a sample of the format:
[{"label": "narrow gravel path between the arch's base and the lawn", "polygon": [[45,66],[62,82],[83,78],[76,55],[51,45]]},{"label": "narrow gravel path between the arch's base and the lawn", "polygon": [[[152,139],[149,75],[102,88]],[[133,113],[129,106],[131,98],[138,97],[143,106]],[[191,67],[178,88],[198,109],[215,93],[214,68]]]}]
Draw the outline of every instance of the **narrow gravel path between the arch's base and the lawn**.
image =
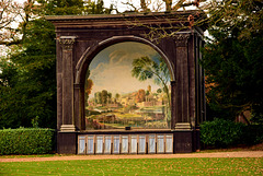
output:
[{"label": "narrow gravel path between the arch's base and the lawn", "polygon": [[138,154],[138,155],[69,155],[50,157],[0,159],[0,162],[44,162],[70,160],[118,160],[118,159],[178,159],[178,157],[263,157],[263,151],[187,153],[187,154]]}]

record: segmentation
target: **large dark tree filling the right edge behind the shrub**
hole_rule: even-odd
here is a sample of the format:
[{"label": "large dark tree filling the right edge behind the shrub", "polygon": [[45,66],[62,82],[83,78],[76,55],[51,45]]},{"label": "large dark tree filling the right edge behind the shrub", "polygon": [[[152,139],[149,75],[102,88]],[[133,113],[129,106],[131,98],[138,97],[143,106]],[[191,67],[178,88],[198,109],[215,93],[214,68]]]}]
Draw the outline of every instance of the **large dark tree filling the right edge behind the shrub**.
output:
[{"label": "large dark tree filling the right edge behind the shrub", "polygon": [[249,109],[262,122],[263,2],[225,1],[221,5],[226,9],[213,11],[218,17],[210,21],[211,38],[202,60],[210,116],[233,119]]}]

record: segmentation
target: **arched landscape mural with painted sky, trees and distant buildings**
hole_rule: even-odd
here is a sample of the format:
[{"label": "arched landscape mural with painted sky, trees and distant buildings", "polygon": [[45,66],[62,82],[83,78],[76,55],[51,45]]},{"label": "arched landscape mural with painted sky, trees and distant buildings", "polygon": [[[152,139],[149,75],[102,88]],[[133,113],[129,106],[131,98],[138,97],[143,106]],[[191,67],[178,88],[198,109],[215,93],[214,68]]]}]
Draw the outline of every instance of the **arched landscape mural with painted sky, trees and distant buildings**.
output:
[{"label": "arched landscape mural with painted sky, trees and distant buildings", "polygon": [[150,46],[125,42],[99,52],[85,81],[85,128],[170,128],[170,72]]}]

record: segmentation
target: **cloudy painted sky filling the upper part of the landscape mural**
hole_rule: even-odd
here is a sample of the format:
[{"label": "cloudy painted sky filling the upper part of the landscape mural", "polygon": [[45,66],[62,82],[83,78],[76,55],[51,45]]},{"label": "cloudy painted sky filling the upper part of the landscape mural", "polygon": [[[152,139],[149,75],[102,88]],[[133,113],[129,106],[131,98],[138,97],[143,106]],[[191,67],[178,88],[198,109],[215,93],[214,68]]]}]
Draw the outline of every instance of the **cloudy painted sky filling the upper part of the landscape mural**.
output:
[{"label": "cloudy painted sky filling the upper part of the landscape mural", "polygon": [[141,82],[132,77],[133,60],[144,56],[160,58],[150,46],[134,42],[115,44],[99,52],[89,67],[89,79],[94,83],[90,97],[102,90],[107,90],[113,95],[146,90],[148,85],[151,85],[152,91],[158,90],[160,86],[156,85],[153,80]]}]

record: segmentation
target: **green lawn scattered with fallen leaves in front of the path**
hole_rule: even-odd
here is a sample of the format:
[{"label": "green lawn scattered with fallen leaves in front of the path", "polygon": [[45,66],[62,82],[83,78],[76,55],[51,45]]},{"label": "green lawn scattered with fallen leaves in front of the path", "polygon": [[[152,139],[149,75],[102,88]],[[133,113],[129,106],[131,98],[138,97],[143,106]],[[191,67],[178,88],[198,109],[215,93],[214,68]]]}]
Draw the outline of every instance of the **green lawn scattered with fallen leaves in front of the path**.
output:
[{"label": "green lawn scattered with fallen leaves in front of the path", "polygon": [[0,175],[262,175],[263,159],[140,159],[0,163]]}]

